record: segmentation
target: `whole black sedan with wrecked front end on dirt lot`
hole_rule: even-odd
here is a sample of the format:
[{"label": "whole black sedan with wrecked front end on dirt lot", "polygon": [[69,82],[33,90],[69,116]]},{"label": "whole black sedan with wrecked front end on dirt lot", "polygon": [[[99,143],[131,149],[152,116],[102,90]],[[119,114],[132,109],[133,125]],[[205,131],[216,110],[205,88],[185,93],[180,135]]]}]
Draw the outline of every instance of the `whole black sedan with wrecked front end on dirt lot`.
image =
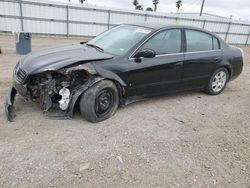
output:
[{"label": "whole black sedan with wrecked front end on dirt lot", "polygon": [[[221,93],[242,72],[243,52],[208,31],[180,25],[122,24],[89,42],[31,53],[17,63],[5,104],[19,93],[50,117],[100,122],[130,102],[169,92]],[[77,104],[77,105],[76,105]]]}]

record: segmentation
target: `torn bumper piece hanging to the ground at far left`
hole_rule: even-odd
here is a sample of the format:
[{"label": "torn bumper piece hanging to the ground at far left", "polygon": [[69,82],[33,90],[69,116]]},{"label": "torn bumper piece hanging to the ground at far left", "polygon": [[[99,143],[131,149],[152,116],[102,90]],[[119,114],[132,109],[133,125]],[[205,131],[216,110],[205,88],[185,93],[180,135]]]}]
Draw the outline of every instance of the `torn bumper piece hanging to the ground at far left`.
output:
[{"label": "torn bumper piece hanging to the ground at far left", "polygon": [[16,116],[14,112],[14,101],[16,94],[16,89],[14,87],[11,87],[7,92],[5,98],[5,115],[8,121],[13,121]]}]

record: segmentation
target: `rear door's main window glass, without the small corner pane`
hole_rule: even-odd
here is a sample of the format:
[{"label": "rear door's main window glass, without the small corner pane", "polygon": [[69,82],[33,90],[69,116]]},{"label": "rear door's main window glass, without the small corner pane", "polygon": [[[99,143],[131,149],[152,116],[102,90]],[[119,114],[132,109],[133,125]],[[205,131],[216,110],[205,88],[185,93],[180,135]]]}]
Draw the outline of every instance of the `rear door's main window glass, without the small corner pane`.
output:
[{"label": "rear door's main window glass, without the small corner pane", "polygon": [[187,52],[213,50],[213,38],[201,31],[186,30]]}]

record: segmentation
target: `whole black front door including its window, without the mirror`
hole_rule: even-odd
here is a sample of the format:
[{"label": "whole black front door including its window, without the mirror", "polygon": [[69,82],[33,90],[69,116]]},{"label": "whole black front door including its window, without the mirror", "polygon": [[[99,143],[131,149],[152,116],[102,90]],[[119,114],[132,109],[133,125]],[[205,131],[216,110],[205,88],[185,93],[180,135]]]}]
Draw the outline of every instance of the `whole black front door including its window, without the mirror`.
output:
[{"label": "whole black front door including its window, without the mirror", "polygon": [[179,90],[182,79],[184,55],[181,29],[161,31],[151,37],[137,52],[152,49],[154,58],[129,61],[128,95],[151,96]]}]

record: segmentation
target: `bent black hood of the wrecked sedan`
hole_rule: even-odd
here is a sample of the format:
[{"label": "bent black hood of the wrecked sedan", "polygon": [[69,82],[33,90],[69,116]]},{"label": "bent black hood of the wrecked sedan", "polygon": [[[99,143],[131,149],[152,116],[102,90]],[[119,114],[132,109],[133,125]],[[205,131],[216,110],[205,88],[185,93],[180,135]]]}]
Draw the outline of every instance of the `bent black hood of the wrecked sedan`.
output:
[{"label": "bent black hood of the wrecked sedan", "polygon": [[20,60],[20,67],[27,74],[36,74],[58,70],[80,61],[88,62],[110,58],[113,58],[113,55],[100,52],[90,46],[74,44],[30,53]]}]

